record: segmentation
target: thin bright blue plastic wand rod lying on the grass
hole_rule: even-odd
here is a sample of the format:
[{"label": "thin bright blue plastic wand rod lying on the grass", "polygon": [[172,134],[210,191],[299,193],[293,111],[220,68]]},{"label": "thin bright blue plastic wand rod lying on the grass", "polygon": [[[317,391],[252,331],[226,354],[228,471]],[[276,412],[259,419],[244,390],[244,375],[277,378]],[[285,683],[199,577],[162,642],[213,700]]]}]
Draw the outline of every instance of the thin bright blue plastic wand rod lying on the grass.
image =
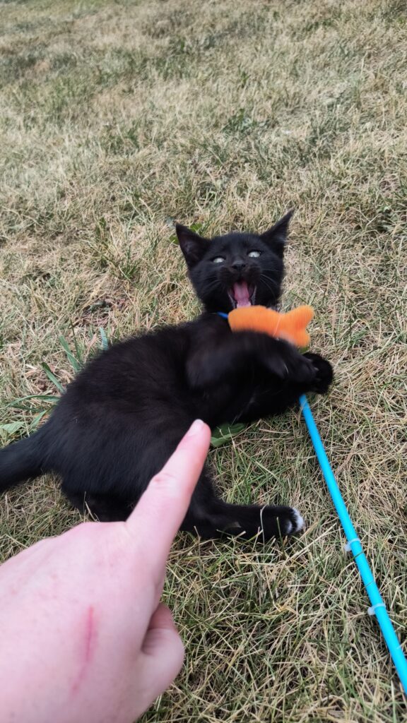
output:
[{"label": "thin bright blue plastic wand rod lying on the grass", "polygon": [[401,685],[403,685],[404,693],[407,693],[406,657],[403,654],[400,642],[397,635],[395,634],[395,630],[387,613],[385,603],[383,602],[377,584],[374,581],[372,570],[369,568],[369,562],[367,562],[366,560],[364,551],[361,547],[361,542],[358,539],[356,530],[353,527],[348,510],[346,509],[345,502],[343,502],[343,497],[340,494],[339,487],[337,486],[335,476],[332,472],[330,462],[327,458],[327,453],[324,450],[324,445],[322,444],[318,429],[316,429],[314,417],[312,416],[312,412],[309,408],[309,403],[305,394],[301,395],[300,404],[301,411],[306,421],[306,426],[308,427],[309,434],[311,435],[311,440],[315,448],[316,456],[322,469],[322,474],[324,475],[325,482],[327,482],[327,486],[330,490],[330,495],[332,497],[332,502],[335,505],[337,514],[340,518],[340,522],[343,526],[343,530],[345,531],[346,539],[348,540],[347,547],[353,553],[353,557],[355,558],[359,573],[361,574],[361,578],[364,581],[366,592],[369,595],[370,602],[372,603],[372,607],[369,608],[369,614],[376,615],[377,617],[377,622],[379,623],[380,629],[382,630],[382,634],[385,638],[387,648],[390,651],[390,655],[393,658],[393,663],[395,664],[395,669],[398,672],[398,677],[400,678]]}]

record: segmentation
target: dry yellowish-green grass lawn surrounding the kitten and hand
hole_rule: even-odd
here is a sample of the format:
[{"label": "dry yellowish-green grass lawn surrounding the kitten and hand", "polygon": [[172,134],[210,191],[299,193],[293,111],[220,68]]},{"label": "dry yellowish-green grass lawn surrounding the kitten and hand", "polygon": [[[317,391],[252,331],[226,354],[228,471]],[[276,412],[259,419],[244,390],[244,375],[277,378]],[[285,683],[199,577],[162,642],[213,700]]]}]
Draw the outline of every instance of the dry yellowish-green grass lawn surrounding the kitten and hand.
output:
[{"label": "dry yellowish-green grass lawn surrounding the kitten and hand", "polygon": [[[88,356],[100,328],[196,313],[174,218],[263,230],[294,206],[285,306],[316,308],[336,383],[314,414],[406,641],[404,4],[16,0],[0,21],[1,442],[38,424],[45,401],[10,403],[54,395],[47,369],[72,378],[61,336]],[[227,500],[290,502],[307,529],[178,539],[164,595],[187,659],[143,723],[404,719],[299,414],[211,461]],[[80,520],[51,476],[0,510],[4,557]]]}]

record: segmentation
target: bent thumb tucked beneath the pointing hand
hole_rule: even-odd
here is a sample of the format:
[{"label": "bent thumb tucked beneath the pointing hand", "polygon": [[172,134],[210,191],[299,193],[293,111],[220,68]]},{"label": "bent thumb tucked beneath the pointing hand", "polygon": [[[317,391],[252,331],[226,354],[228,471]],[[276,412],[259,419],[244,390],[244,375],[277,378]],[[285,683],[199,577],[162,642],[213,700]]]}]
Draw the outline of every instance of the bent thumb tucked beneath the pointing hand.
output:
[{"label": "bent thumb tucked beneath the pointing hand", "polygon": [[[172,614],[162,603],[151,617],[143,641],[143,677],[151,701],[177,677],[184,660],[184,646],[175,627]],[[147,690],[146,690],[147,693]]]}]

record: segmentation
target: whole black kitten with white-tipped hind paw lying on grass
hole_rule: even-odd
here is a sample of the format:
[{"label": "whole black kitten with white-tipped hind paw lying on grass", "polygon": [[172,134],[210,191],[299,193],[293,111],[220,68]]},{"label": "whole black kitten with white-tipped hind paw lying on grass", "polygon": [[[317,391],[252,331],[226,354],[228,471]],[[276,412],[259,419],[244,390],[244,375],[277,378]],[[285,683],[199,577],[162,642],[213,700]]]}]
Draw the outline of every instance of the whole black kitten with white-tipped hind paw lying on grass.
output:
[{"label": "whole black kitten with white-tipped hind paw lying on grass", "polygon": [[[47,471],[62,476],[72,505],[124,520],[193,419],[210,427],[280,414],[301,393],[325,393],[328,361],[254,332],[232,333],[217,312],[279,301],[290,213],[265,234],[204,239],[177,226],[205,311],[184,325],[117,343],[80,372],[46,424],[0,450],[0,489]],[[203,537],[261,539],[301,529],[290,507],[230,505],[206,466],[181,529]]]}]

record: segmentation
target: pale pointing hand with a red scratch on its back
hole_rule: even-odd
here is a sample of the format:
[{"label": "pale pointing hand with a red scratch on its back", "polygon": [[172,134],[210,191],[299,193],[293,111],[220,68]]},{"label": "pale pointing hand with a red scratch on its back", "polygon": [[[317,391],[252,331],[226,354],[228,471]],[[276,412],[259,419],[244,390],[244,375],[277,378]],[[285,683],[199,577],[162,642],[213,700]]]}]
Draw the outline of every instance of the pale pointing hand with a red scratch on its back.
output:
[{"label": "pale pointing hand with a red scratch on its back", "polygon": [[2,723],[133,723],[175,679],[184,647],[160,598],[209,440],[195,422],[127,522],[80,524],[1,565]]}]

